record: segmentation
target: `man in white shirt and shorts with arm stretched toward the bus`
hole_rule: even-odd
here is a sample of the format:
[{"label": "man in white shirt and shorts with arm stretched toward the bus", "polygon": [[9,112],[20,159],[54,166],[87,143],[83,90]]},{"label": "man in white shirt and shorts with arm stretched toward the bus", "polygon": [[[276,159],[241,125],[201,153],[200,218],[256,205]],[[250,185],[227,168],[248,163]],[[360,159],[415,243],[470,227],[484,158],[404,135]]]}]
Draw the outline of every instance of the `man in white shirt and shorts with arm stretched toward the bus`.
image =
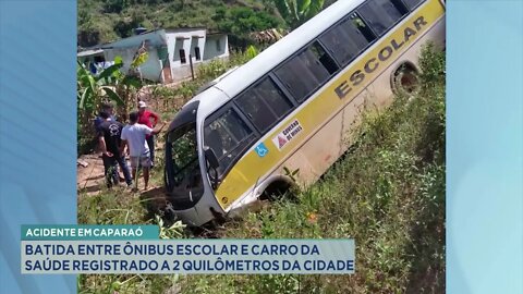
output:
[{"label": "man in white shirt and shorts with arm stretched toward the bus", "polygon": [[130,124],[125,125],[122,130],[122,144],[121,150],[125,149],[125,146],[129,148],[129,155],[131,159],[131,168],[133,170],[133,176],[135,177],[135,187],[134,189],[138,189],[138,176],[136,171],[142,168],[144,171],[144,182],[145,182],[145,189],[147,189],[147,185],[149,183],[149,168],[150,168],[150,151],[149,147],[147,146],[146,136],[150,134],[158,134],[163,125],[159,130],[153,130],[145,124],[139,124],[138,122],[138,113],[131,112],[129,114]]}]

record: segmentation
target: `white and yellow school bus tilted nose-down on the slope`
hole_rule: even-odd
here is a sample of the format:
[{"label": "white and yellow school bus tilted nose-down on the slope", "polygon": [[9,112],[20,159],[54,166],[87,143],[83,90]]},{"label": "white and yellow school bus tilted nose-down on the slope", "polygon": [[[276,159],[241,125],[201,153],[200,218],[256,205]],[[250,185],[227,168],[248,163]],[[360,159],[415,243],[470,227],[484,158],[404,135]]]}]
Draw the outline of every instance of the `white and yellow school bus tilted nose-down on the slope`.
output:
[{"label": "white and yellow school bus tilted nose-down on the slope", "polygon": [[200,225],[316,181],[350,146],[363,105],[385,108],[412,90],[427,41],[445,46],[443,1],[337,1],[216,79],[168,130],[177,216]]}]

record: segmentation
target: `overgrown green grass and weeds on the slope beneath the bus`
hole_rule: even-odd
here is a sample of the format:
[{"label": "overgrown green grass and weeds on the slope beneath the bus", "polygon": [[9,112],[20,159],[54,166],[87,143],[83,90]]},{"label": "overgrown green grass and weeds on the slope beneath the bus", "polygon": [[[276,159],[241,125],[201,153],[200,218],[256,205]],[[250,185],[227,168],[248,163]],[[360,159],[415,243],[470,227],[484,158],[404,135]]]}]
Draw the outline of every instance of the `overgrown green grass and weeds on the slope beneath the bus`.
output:
[{"label": "overgrown green grass and weeds on the slope beneath the bus", "polygon": [[[445,292],[445,53],[421,58],[422,87],[380,113],[368,109],[357,138],[315,185],[231,220],[214,235],[234,238],[354,237],[354,275],[80,275],[80,293],[442,293]],[[161,167],[159,167],[161,168]],[[293,171],[289,171],[293,172]],[[161,185],[161,173],[154,174]],[[161,188],[142,195],[80,195],[78,223],[171,226]],[[202,236],[202,235],[198,235]]]}]

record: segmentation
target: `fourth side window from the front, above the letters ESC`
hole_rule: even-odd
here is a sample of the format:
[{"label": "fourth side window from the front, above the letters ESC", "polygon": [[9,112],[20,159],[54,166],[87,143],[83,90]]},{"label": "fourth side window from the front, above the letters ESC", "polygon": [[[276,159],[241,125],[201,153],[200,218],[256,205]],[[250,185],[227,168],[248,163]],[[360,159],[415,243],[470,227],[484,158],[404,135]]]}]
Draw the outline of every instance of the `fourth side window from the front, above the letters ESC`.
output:
[{"label": "fourth side window from the front, above the letters ESC", "polygon": [[349,64],[374,39],[374,34],[355,13],[320,37],[321,42],[342,66]]}]

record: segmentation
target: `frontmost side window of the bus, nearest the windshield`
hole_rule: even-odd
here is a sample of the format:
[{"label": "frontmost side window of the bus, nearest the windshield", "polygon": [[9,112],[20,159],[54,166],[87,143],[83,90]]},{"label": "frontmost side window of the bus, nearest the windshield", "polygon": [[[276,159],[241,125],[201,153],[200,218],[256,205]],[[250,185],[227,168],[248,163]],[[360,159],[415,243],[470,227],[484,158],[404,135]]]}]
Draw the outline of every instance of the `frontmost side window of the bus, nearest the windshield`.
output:
[{"label": "frontmost side window of the bus, nearest the windshield", "polygon": [[232,108],[210,123],[206,121],[204,128],[204,144],[212,148],[218,157],[220,175],[243,154],[254,138],[253,131]]}]

